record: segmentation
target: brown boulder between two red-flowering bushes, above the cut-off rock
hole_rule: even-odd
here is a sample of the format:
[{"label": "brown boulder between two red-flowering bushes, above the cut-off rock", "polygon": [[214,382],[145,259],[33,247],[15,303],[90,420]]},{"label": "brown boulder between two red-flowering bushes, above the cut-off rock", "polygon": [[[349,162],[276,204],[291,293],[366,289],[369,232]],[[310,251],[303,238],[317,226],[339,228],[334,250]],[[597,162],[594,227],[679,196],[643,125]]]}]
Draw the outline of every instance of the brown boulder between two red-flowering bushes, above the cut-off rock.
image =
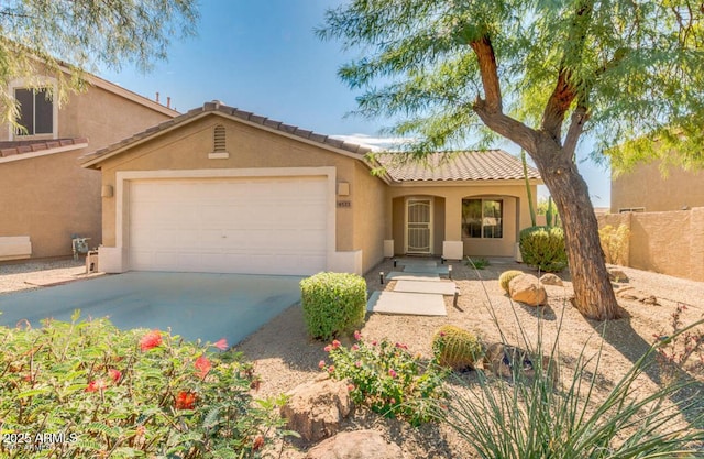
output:
[{"label": "brown boulder between two red-flowering bushes, above the cut-off rock", "polygon": [[321,379],[295,387],[282,406],[287,428],[306,441],[318,441],[338,433],[340,422],[350,414],[348,383]]}]

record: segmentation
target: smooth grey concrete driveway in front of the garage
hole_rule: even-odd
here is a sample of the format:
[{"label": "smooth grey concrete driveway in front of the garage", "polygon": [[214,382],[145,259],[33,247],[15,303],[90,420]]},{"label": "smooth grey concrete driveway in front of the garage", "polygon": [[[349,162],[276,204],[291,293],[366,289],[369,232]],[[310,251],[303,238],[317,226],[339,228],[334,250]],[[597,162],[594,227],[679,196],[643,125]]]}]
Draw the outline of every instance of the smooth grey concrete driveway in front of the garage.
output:
[{"label": "smooth grey concrete driveway in front of the garage", "polygon": [[119,328],[158,328],[187,340],[235,345],[300,299],[296,276],[129,272],[0,295],[0,325],[109,317]]}]

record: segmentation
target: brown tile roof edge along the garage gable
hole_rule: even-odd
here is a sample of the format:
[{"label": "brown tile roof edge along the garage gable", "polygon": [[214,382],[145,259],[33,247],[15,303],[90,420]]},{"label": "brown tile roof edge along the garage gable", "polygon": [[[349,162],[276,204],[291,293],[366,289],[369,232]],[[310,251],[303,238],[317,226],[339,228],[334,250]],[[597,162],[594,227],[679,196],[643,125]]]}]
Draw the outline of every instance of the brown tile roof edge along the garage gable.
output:
[{"label": "brown tile roof edge along the garage gable", "polygon": [[282,133],[287,135],[294,135],[297,138],[301,138],[304,140],[321,143],[321,144],[331,146],[333,149],[344,150],[349,153],[353,153],[354,155],[359,155],[360,159],[362,159],[366,153],[370,153],[372,151],[372,149],[369,149],[366,146],[361,146],[361,145],[344,142],[338,139],[332,139],[331,136],[308,131],[308,130],[298,128],[296,125],[285,124],[280,121],[272,120],[266,117],[262,117],[260,114],[253,113],[251,111],[240,110],[234,107],[224,106],[219,101],[212,101],[212,102],[206,102],[204,103],[202,107],[189,110],[188,112],[179,117],[165,121],[161,124],[152,127],[140,133],[136,133],[131,138],[124,139],[105,149],[101,149],[94,153],[89,153],[81,156],[81,162],[84,164],[84,167],[91,166],[92,164],[99,162],[100,159],[109,157],[112,154],[118,153],[134,143],[138,143],[143,140],[147,140],[163,132],[170,131],[172,129],[174,129],[179,124],[184,124],[189,121],[196,120],[208,113],[224,114],[233,119],[239,119],[239,120],[251,122],[254,124],[261,124],[264,128],[280,131]]}]

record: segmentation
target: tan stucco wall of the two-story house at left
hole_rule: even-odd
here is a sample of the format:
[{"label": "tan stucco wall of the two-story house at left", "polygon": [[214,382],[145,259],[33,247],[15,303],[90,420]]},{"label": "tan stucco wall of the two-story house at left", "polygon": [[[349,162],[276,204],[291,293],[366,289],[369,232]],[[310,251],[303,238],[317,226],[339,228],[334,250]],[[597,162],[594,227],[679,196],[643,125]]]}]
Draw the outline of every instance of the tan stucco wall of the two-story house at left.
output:
[{"label": "tan stucco wall of the two-story house at left", "polygon": [[[72,234],[97,247],[100,173],[80,167],[77,159],[168,118],[98,87],[72,96],[58,112],[58,136],[88,138],[88,147],[0,163],[0,236],[30,236],[32,258],[70,254]],[[9,132],[7,124],[0,128],[0,139]]]}]

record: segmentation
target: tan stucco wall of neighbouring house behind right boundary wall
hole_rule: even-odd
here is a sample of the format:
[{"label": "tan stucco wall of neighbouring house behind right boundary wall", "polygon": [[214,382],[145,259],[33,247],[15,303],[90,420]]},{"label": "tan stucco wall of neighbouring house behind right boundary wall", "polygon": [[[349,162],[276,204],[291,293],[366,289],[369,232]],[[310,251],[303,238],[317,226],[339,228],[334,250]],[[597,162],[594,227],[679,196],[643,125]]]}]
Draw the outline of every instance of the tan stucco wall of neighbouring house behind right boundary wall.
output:
[{"label": "tan stucco wall of neighbouring house behind right boundary wall", "polygon": [[612,212],[645,207],[647,212],[704,206],[704,171],[672,167],[663,177],[659,163],[640,164],[612,179]]}]

